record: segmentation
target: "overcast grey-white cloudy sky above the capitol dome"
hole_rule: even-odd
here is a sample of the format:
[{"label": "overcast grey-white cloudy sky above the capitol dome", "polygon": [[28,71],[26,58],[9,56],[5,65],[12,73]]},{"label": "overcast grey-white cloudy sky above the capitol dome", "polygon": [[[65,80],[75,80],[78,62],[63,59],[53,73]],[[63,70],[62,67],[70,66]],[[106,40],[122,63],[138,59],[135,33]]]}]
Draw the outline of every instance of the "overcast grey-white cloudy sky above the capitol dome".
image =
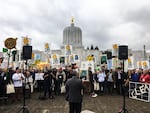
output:
[{"label": "overcast grey-white cloudy sky above the capitol dome", "polygon": [[44,50],[45,43],[58,49],[72,16],[85,48],[150,49],[150,0],[0,0],[0,48],[8,37],[17,37],[20,49],[21,37],[28,36],[33,49]]}]

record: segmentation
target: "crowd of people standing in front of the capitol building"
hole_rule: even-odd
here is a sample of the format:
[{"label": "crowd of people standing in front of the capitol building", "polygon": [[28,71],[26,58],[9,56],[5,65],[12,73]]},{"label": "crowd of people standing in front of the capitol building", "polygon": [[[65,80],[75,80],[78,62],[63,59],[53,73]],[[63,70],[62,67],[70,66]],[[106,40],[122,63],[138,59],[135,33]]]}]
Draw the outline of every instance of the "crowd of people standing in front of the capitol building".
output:
[{"label": "crowd of people standing in front of the capitol building", "polygon": [[[16,70],[12,68],[0,69],[0,97],[6,97],[12,99],[12,102],[20,101],[22,96],[22,89],[25,84],[25,89],[29,89],[30,94],[38,90],[43,91],[42,96],[47,99],[53,99],[56,95],[60,95],[62,92],[62,86],[66,85],[68,79],[72,78],[74,72],[77,72],[78,78],[83,83],[83,92],[87,88],[84,85],[84,81],[89,81],[90,88],[88,93],[92,97],[105,94],[123,94],[123,87],[126,86],[128,90],[129,81],[150,83],[150,70],[133,69],[128,70],[127,73],[123,72],[121,68],[115,70],[107,70],[105,66],[96,68],[93,72],[91,67],[88,68],[88,75],[86,79],[80,78],[79,68],[75,68],[72,65],[59,69],[53,68],[45,70],[29,69],[21,70],[19,67]],[[43,74],[42,80],[37,80],[36,76]],[[7,84],[13,83],[15,87],[14,94],[6,93]],[[98,88],[95,88],[98,84]],[[87,89],[86,89],[87,90]],[[128,91],[126,91],[128,92]]]}]

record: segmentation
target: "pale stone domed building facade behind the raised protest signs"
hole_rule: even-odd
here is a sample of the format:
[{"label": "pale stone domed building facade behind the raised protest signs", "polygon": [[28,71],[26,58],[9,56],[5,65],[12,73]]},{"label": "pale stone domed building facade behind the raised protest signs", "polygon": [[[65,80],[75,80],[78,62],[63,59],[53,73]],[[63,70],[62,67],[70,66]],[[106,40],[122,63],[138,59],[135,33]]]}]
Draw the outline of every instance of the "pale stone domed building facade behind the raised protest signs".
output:
[{"label": "pale stone domed building facade behind the raised protest signs", "polygon": [[[114,46],[109,51],[113,53],[113,56],[115,55],[115,58],[118,58],[118,50],[114,48],[116,47]],[[91,48],[85,49],[82,40],[82,30],[75,25],[74,19],[71,19],[70,26],[63,29],[63,42],[61,48],[59,50],[49,51],[33,50],[32,59],[28,60],[28,65],[36,65],[40,62],[45,62],[49,63],[51,67],[58,67],[76,63],[80,67],[83,61],[92,61],[94,62],[94,66],[96,66],[101,65],[101,58],[103,55],[106,55],[106,52],[99,50],[97,46],[91,46]],[[1,67],[6,67],[8,64],[8,56],[6,53],[3,53],[3,56],[5,59]],[[130,61],[129,63],[132,62],[130,68],[138,68],[138,61],[150,62],[150,52],[143,52],[142,50],[133,51],[129,49],[128,58],[128,61]],[[17,50],[15,58],[11,56],[9,62],[9,67],[24,67],[25,61],[22,58],[22,50]],[[116,67],[117,66],[120,66],[120,64],[117,64]]]}]

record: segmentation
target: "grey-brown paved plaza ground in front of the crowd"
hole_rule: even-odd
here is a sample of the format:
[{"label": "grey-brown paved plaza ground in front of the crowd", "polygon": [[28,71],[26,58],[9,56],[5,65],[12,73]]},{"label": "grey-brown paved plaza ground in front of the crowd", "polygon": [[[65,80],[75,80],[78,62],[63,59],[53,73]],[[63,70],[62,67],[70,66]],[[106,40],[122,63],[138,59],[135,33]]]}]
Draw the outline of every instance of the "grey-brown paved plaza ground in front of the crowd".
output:
[{"label": "grey-brown paved plaza ground in front of the crowd", "polygon": [[[55,96],[54,99],[39,100],[39,93],[32,94],[26,99],[29,113],[68,113],[69,106],[64,95]],[[82,111],[89,110],[94,113],[118,113],[122,108],[123,98],[119,95],[103,95],[92,98],[84,95]],[[23,105],[23,101],[1,103],[0,113],[17,113]],[[150,113],[150,103],[133,100],[126,97],[126,109],[129,113]],[[22,111],[20,112],[22,113]],[[84,112],[85,113],[85,112]]]}]

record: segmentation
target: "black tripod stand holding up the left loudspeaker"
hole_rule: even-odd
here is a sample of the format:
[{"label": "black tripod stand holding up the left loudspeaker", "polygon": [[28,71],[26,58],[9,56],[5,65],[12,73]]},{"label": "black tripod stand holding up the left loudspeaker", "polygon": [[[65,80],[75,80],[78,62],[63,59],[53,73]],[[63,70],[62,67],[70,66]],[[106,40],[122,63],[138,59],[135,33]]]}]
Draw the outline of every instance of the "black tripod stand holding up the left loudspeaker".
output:
[{"label": "black tripod stand holding up the left loudspeaker", "polygon": [[[27,66],[27,60],[26,60],[26,66]],[[27,68],[26,68],[27,69]],[[25,90],[26,90],[26,77],[25,77],[25,82],[23,83],[23,107],[17,112],[17,113],[19,113],[19,112],[21,112],[22,110],[22,113],[29,113],[29,110],[27,109],[27,107],[26,107],[26,96],[25,96],[25,94],[26,94],[26,92],[25,92]]]}]

